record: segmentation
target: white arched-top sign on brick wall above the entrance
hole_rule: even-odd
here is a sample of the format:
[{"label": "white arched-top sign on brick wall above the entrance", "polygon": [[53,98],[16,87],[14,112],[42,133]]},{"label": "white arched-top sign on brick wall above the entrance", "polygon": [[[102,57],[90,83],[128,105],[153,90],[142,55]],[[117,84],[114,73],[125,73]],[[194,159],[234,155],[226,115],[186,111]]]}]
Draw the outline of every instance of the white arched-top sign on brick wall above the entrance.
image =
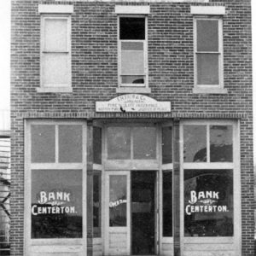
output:
[{"label": "white arched-top sign on brick wall above the entrance", "polygon": [[140,94],[126,94],[109,102],[96,102],[96,112],[171,112],[171,102],[158,102]]}]

